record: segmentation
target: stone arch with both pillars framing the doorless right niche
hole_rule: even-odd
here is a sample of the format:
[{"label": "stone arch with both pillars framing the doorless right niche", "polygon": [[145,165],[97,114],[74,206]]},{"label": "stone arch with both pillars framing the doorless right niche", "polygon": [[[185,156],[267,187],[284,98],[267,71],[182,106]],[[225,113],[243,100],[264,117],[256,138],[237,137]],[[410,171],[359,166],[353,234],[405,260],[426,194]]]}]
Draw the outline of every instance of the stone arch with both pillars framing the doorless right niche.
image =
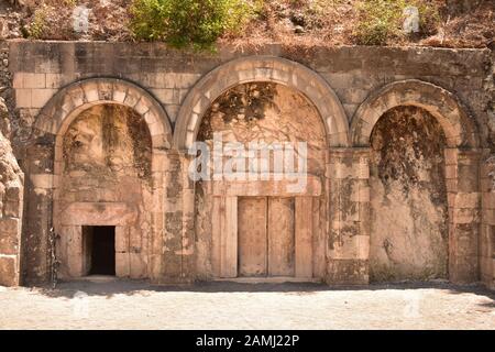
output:
[{"label": "stone arch with both pillars framing the doorless right niche", "polygon": [[[332,200],[334,211],[331,213],[329,282],[345,282],[352,274],[356,283],[369,280],[370,138],[378,119],[400,106],[425,109],[444,131],[448,145],[444,158],[449,209],[449,277],[457,283],[475,282],[479,278],[481,206],[477,127],[451,92],[416,79],[396,81],[373,92],[352,119],[350,135],[353,147],[330,151],[330,183],[336,197]],[[344,173],[343,169],[348,172]],[[351,195],[345,195],[345,189],[352,189]],[[349,197],[356,204],[349,206]],[[345,215],[349,212],[346,205],[360,211]],[[351,234],[358,235],[349,237],[352,228],[355,233]]]}]

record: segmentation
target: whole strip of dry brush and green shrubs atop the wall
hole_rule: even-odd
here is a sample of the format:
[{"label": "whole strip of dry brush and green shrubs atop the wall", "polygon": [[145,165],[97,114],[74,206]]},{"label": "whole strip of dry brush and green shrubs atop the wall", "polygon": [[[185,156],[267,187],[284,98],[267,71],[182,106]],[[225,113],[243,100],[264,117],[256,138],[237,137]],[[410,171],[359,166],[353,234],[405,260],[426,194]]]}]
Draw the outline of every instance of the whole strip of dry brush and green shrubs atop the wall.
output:
[{"label": "whole strip of dry brush and green shrubs atop the wall", "polygon": [[[4,38],[163,41],[288,46],[426,45],[486,47],[495,38],[493,0],[24,0],[0,3]],[[74,30],[75,7],[89,9],[88,32]],[[404,9],[419,32],[403,31]]]}]

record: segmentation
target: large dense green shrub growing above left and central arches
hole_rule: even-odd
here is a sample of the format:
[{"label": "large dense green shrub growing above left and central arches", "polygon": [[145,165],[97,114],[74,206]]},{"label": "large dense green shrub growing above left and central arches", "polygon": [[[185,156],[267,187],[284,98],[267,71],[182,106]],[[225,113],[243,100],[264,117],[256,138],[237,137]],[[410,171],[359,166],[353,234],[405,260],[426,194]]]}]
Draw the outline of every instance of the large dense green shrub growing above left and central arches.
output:
[{"label": "large dense green shrub growing above left and central arches", "polygon": [[133,0],[130,28],[138,40],[205,48],[240,31],[254,11],[248,0]]}]

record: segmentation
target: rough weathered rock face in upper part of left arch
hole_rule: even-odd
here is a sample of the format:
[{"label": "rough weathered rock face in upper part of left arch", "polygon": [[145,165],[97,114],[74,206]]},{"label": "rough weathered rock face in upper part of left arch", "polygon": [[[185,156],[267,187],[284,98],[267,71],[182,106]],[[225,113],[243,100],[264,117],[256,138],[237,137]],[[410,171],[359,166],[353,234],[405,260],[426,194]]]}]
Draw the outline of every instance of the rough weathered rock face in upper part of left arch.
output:
[{"label": "rough weathered rock face in upper part of left arch", "polygon": [[151,135],[144,120],[119,106],[99,106],[77,118],[64,138],[65,170],[151,176]]}]

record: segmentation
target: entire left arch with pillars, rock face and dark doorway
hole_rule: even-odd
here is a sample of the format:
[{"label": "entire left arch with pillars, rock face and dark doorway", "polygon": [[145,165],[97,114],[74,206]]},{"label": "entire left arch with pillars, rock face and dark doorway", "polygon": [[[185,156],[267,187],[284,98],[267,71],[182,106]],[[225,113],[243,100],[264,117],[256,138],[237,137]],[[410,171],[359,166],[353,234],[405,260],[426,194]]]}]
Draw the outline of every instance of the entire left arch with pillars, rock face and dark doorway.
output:
[{"label": "entire left arch with pillars, rock face and dark doorway", "polygon": [[[58,237],[62,277],[94,273],[97,263],[91,255],[106,246],[110,249],[101,254],[106,256],[112,245],[114,267],[103,267],[101,274],[160,276],[163,256],[156,239],[163,231],[162,185],[172,142],[162,106],[129,81],[85,79],[55,95],[34,130],[28,165],[32,205],[38,213],[33,208],[28,212],[40,221],[33,222],[38,227],[36,238],[26,241],[41,248],[33,255],[35,265],[25,265],[28,276],[32,280],[50,276],[51,233]],[[46,164],[46,154],[53,165]],[[40,167],[43,163],[46,167]],[[96,249],[98,243],[101,248]]]}]

